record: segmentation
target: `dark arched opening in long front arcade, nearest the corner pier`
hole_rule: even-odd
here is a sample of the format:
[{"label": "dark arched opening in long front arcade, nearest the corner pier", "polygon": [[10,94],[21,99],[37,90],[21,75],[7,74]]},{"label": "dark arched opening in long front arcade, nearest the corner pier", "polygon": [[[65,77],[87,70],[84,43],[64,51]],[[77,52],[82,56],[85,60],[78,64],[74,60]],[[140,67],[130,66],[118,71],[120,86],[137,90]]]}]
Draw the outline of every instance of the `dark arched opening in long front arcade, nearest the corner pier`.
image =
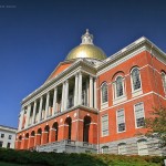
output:
[{"label": "dark arched opening in long front arcade, nearest the corner pier", "polygon": [[68,117],[65,120],[65,138],[66,139],[71,139],[72,137],[72,118],[71,117]]}]

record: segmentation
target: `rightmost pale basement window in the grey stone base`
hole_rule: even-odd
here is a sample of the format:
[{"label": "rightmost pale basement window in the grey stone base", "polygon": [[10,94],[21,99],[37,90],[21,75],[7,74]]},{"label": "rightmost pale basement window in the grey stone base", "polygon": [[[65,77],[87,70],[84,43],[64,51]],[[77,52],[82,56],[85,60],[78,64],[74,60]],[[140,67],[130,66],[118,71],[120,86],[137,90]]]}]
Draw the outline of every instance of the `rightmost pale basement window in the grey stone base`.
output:
[{"label": "rightmost pale basement window in the grey stone base", "polygon": [[148,155],[147,141],[139,139],[137,141],[138,155]]}]

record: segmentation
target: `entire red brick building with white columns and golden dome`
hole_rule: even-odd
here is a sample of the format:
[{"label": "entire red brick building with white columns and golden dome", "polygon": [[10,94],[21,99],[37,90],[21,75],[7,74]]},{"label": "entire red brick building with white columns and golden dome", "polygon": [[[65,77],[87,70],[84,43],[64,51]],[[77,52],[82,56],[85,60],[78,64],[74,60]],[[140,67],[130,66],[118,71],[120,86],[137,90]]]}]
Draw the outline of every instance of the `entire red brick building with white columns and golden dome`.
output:
[{"label": "entire red brick building with white columns and golden dome", "polygon": [[159,106],[166,106],[166,54],[142,37],[106,58],[86,31],[22,100],[15,148],[163,155],[158,141],[143,135],[144,120]]}]

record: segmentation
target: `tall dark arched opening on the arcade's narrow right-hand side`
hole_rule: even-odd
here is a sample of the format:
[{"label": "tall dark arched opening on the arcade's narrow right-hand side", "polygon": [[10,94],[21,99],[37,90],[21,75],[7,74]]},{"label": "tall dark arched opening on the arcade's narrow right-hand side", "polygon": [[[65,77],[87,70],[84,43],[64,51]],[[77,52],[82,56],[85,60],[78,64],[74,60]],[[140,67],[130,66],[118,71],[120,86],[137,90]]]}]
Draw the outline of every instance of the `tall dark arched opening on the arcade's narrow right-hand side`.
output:
[{"label": "tall dark arched opening on the arcade's narrow right-hand side", "polygon": [[91,117],[85,116],[84,117],[84,126],[83,126],[83,142],[86,142],[86,143],[89,143],[90,124],[91,124]]}]

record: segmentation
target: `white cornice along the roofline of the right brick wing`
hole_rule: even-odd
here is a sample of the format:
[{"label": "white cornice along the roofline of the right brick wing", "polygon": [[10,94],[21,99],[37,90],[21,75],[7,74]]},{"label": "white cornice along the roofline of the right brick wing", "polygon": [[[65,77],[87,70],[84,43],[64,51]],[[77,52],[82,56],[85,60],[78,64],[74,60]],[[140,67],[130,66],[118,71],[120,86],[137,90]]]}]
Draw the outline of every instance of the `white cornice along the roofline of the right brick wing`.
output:
[{"label": "white cornice along the roofline of the right brick wing", "polygon": [[163,52],[159,48],[157,48],[148,39],[146,39],[145,37],[142,37],[138,40],[136,40],[135,42],[131,43],[129,45],[125,46],[124,49],[120,50],[115,54],[113,54],[110,58],[107,58],[106,60],[104,60],[96,68],[97,69],[97,75],[101,75],[102,73],[114,68],[115,64],[117,65],[117,64],[126,61],[128,58],[132,58],[132,56],[136,55],[137,53],[145,51],[145,50],[151,52],[151,53],[154,53],[155,56],[158,58],[158,60],[160,60],[159,56],[162,56],[166,61],[166,53]]}]

